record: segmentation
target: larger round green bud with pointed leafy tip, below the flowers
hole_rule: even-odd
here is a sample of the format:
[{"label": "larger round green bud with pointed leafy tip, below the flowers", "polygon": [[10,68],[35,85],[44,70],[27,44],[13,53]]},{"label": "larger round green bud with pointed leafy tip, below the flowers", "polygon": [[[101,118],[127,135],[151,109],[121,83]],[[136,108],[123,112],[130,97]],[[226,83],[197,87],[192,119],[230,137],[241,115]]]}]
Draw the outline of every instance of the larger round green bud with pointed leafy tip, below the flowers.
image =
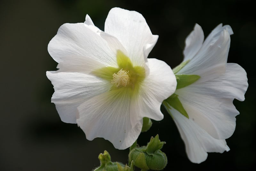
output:
[{"label": "larger round green bud with pointed leafy tip, below the flowers", "polygon": [[134,166],[143,170],[162,170],[167,165],[167,157],[160,150],[164,144],[158,135],[151,137],[147,146],[136,147],[129,153],[129,160],[133,160]]}]

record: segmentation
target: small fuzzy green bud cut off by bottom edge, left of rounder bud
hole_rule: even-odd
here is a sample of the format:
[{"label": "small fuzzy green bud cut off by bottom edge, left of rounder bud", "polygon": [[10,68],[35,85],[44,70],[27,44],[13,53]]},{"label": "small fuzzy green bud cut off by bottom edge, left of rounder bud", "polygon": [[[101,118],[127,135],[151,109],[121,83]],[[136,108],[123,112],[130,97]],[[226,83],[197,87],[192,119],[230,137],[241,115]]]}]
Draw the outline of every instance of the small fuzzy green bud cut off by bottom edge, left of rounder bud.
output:
[{"label": "small fuzzy green bud cut off by bottom edge, left of rounder bud", "polygon": [[[95,168],[93,171],[120,171],[118,170],[118,166],[124,167],[124,164],[122,163],[111,162],[111,157],[106,150],[104,151],[103,154],[100,153],[98,159],[100,160],[100,167]],[[127,170],[127,171],[130,171],[130,170]]]}]

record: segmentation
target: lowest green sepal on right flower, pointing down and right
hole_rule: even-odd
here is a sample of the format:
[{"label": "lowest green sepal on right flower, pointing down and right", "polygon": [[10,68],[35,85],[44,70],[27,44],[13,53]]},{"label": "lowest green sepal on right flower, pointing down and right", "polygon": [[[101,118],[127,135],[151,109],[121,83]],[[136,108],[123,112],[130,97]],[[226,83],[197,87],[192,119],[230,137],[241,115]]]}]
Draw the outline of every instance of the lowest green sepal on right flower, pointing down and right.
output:
[{"label": "lowest green sepal on right flower, pointing down and right", "polygon": [[[171,109],[171,107],[173,107],[174,109],[178,110],[182,115],[189,118],[188,113],[182,106],[177,94],[172,94],[170,97],[168,97],[166,100],[163,101],[163,104],[164,104],[165,108]],[[170,115],[172,115],[172,114],[170,114]]]}]

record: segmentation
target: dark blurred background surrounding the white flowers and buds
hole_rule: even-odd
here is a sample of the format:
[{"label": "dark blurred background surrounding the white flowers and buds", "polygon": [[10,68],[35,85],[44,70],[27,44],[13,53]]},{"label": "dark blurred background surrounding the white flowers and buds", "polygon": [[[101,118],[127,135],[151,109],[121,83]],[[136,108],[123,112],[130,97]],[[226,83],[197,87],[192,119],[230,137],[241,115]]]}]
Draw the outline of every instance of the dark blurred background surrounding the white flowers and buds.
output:
[{"label": "dark blurred background surrounding the white flowers and buds", "polygon": [[46,71],[57,63],[47,52],[47,45],[64,23],[84,22],[89,14],[94,24],[104,30],[112,7],[140,12],[159,39],[149,57],[164,60],[172,68],[183,58],[187,35],[195,23],[205,37],[220,23],[230,25],[228,62],[238,63],[246,71],[249,88],[245,101],[234,100],[240,115],[236,130],[227,139],[229,152],[208,153],[201,164],[191,163],[184,143],[171,117],[153,121],[142,133],[140,145],[159,134],[166,141],[168,157],[164,170],[250,170],[255,167],[255,6],[248,0],[226,1],[142,1],[142,0],[22,0],[0,1],[1,119],[0,170],[84,170],[100,165],[99,153],[107,150],[112,161],[127,163],[128,150],[116,150],[102,138],[88,141],[76,124],[60,121],[51,96],[53,86]]}]

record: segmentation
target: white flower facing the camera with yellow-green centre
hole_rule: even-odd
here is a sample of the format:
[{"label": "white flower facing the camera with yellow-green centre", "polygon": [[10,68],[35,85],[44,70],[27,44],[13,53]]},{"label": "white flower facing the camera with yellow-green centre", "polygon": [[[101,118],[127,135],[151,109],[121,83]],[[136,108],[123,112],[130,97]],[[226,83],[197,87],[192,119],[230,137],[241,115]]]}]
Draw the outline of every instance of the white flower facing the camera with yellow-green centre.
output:
[{"label": "white flower facing the camera with yellow-green centre", "polygon": [[46,75],[61,120],[77,123],[88,140],[130,147],[143,117],[162,120],[161,103],[176,89],[172,69],[147,58],[157,39],[140,13],[120,8],[109,11],[105,32],[88,15],[60,26],[48,45],[59,70]]}]

